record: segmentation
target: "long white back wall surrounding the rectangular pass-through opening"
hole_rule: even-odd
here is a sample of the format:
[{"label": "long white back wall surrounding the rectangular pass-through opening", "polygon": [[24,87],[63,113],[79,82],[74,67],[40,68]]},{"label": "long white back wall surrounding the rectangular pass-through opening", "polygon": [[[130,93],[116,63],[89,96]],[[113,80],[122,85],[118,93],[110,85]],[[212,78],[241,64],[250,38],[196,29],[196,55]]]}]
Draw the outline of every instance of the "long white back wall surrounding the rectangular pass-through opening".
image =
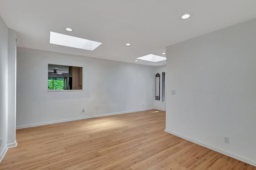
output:
[{"label": "long white back wall surrounding the rectangular pass-through opening", "polygon": [[[84,90],[48,92],[48,64],[82,66]],[[152,75],[151,66],[18,48],[17,128],[152,109]]]}]

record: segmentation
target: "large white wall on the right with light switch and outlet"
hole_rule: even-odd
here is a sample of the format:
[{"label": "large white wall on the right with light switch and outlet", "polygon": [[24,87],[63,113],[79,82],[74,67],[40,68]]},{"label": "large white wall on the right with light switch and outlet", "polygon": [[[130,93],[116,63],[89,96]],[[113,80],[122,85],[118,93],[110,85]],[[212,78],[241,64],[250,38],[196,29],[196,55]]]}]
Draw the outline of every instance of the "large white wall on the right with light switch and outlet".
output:
[{"label": "large white wall on the right with light switch and outlet", "polygon": [[254,166],[255,30],[256,19],[166,48],[166,131]]}]

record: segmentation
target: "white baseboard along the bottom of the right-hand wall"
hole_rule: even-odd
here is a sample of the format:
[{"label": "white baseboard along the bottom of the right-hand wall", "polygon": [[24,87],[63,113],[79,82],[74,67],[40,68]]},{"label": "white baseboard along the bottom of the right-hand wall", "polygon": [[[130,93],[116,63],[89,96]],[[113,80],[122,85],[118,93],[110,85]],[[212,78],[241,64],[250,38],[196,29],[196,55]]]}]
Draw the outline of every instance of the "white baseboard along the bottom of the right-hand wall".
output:
[{"label": "white baseboard along the bottom of the right-hand wall", "polygon": [[216,148],[216,147],[214,147],[214,146],[212,146],[212,145],[208,145],[208,144],[206,144],[206,143],[202,143],[202,142],[200,142],[200,141],[197,141],[196,139],[192,139],[192,138],[190,138],[190,137],[186,137],[186,136],[184,136],[184,135],[181,135],[181,134],[179,134],[179,133],[170,131],[170,130],[168,130],[168,129],[165,129],[164,131],[167,132],[167,133],[170,133],[170,134],[172,134],[172,135],[178,136],[178,137],[180,137],[180,138],[186,139],[186,140],[188,140],[188,141],[190,141],[190,142],[193,142],[193,143],[196,143],[196,144],[198,144],[198,145],[201,145],[201,146],[203,146],[203,147],[206,147],[206,148],[208,148],[208,149],[214,150],[214,151],[216,151],[216,152],[220,152],[220,153],[222,153],[222,154],[225,154],[225,155],[230,156],[230,157],[232,157],[232,158],[235,158],[235,159],[237,159],[237,160],[241,160],[242,162],[246,162],[246,163],[248,163],[248,164],[251,164],[251,165],[253,165],[253,166],[256,166],[256,161],[254,161],[254,160],[245,158],[245,157],[243,157],[243,156],[234,154],[234,153],[232,153],[232,152],[228,152],[228,151],[226,151],[226,150],[218,149],[218,148]]}]

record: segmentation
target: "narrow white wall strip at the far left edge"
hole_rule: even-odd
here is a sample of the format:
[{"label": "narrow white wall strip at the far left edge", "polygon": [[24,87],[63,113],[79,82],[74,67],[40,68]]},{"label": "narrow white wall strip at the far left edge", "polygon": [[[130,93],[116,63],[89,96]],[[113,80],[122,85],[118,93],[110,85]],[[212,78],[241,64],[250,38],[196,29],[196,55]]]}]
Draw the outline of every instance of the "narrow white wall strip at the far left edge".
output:
[{"label": "narrow white wall strip at the far left edge", "polygon": [[0,17],[0,162],[7,151],[8,133],[8,27]]}]

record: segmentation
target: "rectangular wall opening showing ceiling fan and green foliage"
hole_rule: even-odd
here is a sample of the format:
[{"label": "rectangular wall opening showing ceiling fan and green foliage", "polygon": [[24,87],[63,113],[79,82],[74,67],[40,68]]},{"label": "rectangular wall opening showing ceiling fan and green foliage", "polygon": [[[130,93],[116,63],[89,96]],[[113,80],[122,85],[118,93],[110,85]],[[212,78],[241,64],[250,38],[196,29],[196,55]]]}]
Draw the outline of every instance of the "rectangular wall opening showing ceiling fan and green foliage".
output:
[{"label": "rectangular wall opening showing ceiling fan and green foliage", "polygon": [[83,68],[48,64],[48,90],[82,90]]}]

